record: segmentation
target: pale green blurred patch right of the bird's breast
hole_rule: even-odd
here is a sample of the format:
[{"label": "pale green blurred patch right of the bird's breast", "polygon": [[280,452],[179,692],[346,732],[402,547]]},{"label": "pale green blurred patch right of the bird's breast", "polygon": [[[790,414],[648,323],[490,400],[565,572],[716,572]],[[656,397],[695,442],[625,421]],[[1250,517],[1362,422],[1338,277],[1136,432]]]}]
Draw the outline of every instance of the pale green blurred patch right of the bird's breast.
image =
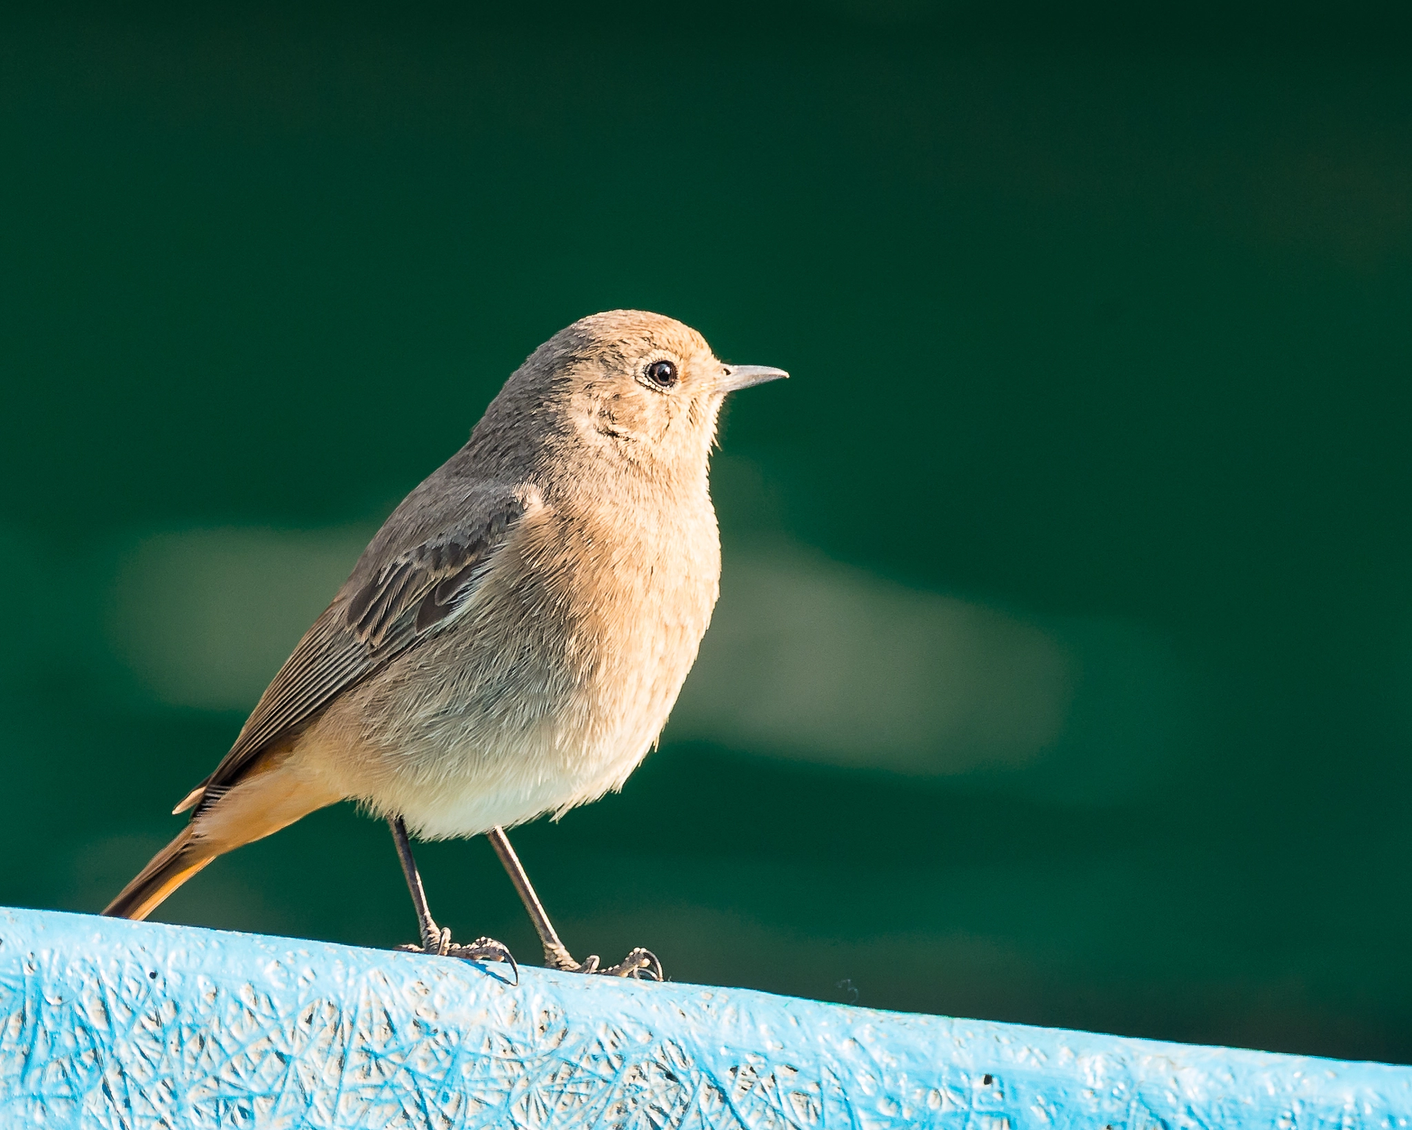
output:
[{"label": "pale green blurred patch right of the bird's breast", "polygon": [[1059,737],[1075,675],[1059,640],[984,605],[727,547],[671,734],[928,775],[1017,767]]}]

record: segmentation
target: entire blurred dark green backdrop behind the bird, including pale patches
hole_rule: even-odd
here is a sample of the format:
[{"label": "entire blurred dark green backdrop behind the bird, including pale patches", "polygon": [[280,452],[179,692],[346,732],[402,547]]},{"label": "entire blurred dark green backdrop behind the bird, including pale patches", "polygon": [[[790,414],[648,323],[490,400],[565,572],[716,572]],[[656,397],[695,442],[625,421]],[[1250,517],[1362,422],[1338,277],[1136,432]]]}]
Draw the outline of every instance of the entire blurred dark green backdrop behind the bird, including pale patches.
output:
[{"label": "entire blurred dark green backdrop behind the bird, including pale patches", "polygon": [[[102,907],[505,374],[644,307],[795,379],[730,405],[661,751],[515,836],[576,952],[1412,1059],[1406,31],[11,11],[0,901]],[[535,952],[483,840],[422,855]],[[414,928],[346,808],[160,917]]]}]

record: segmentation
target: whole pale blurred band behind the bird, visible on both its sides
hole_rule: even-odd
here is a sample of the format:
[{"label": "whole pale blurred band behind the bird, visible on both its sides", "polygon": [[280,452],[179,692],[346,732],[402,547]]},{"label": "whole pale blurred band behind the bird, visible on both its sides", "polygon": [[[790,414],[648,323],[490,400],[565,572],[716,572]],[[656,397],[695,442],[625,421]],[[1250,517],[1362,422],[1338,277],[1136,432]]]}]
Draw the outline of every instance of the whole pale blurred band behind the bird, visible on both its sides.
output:
[{"label": "whole pale blurred band behind the bird, visible on both its sides", "polygon": [[[147,537],[113,579],[114,653],[164,705],[249,710],[371,534]],[[916,777],[1034,770],[1021,781],[1043,795],[1111,801],[1175,756],[1179,682],[1131,626],[1027,617],[786,542],[727,544],[714,622],[666,737]]]}]

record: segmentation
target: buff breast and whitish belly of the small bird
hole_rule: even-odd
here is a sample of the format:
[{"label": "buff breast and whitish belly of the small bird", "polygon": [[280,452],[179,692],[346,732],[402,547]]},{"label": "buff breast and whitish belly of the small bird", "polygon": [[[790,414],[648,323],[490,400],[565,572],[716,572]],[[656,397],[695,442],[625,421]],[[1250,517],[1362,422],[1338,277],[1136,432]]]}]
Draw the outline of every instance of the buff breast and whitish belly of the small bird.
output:
[{"label": "buff breast and whitish belly of the small bird", "polygon": [[370,784],[352,791],[452,836],[617,788],[666,722],[719,576],[709,503],[527,516],[465,613],[363,702]]}]

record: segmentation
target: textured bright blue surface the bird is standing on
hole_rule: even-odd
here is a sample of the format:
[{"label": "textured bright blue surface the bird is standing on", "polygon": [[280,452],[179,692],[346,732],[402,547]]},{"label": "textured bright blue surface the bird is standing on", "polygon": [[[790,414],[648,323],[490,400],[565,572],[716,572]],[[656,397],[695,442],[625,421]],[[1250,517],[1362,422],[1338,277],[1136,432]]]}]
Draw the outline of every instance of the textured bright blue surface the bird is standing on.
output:
[{"label": "textured bright blue surface the bird is standing on", "polygon": [[0,910],[0,1127],[1406,1127],[1412,1068]]}]

